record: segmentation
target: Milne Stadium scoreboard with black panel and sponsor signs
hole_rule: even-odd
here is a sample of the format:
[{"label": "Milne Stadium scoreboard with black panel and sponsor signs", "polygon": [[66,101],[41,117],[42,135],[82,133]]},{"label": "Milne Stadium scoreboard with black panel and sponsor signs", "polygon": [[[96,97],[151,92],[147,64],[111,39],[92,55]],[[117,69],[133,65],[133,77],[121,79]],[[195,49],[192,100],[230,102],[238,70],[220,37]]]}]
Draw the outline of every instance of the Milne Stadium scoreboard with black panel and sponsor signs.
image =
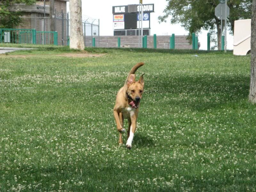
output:
[{"label": "Milne Stadium scoreboard with black panel and sponsor signs", "polygon": [[[154,4],[144,4],[143,9],[143,35],[150,35],[150,13],[154,12]],[[115,35],[138,35],[139,5],[113,6],[113,29]]]}]

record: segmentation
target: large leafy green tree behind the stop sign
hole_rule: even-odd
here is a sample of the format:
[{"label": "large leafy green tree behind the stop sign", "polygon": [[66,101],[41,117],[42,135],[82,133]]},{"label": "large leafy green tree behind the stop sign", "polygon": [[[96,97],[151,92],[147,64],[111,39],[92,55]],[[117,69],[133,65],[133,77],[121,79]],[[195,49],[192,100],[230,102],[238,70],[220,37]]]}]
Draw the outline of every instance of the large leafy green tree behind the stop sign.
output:
[{"label": "large leafy green tree behind the stop sign", "polygon": [[[166,22],[172,16],[171,23],[180,23],[189,35],[198,33],[202,29],[214,30],[217,28],[218,49],[220,50],[221,30],[219,20],[215,16],[215,7],[219,0],[166,0],[168,2],[164,9],[164,15],[159,16],[160,22]],[[228,0],[230,16],[228,26],[234,32],[234,21],[238,19],[250,19],[252,0]],[[223,22],[224,28],[224,22]],[[223,31],[223,30],[222,30]]]}]

